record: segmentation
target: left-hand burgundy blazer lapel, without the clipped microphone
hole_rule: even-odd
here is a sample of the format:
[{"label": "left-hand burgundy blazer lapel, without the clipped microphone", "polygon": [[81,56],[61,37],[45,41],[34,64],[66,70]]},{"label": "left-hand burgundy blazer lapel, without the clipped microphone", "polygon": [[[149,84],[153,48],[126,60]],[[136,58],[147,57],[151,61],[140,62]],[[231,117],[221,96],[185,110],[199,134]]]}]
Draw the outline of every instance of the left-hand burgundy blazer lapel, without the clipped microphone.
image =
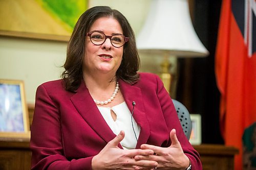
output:
[{"label": "left-hand burgundy blazer lapel, without the clipped microphone", "polygon": [[[91,126],[91,128],[105,141],[109,142],[116,135],[106,124],[104,118],[100,114],[95,105],[88,88],[85,83],[81,83],[77,92],[70,98],[78,113]],[[100,126],[99,126],[100,125]],[[119,144],[121,148],[121,145]]]}]

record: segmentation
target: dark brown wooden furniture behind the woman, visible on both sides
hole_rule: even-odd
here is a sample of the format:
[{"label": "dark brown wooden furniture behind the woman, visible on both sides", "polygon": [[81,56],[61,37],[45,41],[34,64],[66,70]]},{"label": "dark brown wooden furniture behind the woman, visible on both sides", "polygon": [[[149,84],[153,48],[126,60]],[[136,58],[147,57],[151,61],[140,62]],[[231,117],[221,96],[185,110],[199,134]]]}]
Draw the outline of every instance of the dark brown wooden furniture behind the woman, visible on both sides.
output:
[{"label": "dark brown wooden furniture behind the woman, visible on both sides", "polygon": [[[29,138],[0,138],[0,169],[28,170],[31,167]],[[193,145],[199,152],[204,170],[231,170],[238,149],[221,144]],[[195,169],[196,170],[196,169]]]}]

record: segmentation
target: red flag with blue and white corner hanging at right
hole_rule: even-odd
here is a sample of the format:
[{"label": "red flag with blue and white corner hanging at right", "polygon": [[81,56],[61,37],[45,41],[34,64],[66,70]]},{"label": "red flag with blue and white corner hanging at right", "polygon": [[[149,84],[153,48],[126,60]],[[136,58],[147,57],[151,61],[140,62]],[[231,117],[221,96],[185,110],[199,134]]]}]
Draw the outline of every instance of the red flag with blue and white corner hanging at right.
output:
[{"label": "red flag with blue and white corner hanging at right", "polygon": [[216,49],[216,79],[221,93],[220,128],[226,145],[239,149],[235,169],[242,169],[242,136],[256,122],[255,0],[223,0]]}]

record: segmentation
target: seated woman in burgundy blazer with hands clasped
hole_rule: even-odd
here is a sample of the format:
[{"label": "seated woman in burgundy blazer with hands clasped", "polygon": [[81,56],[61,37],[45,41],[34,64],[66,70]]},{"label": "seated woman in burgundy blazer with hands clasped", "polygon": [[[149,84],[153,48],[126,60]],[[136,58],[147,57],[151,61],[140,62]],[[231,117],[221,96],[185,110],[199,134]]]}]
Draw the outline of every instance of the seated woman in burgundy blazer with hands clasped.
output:
[{"label": "seated woman in burgundy blazer with hands clasped", "polygon": [[137,73],[120,12],[84,12],[64,67],[62,80],[37,88],[32,169],[202,169],[159,77]]}]

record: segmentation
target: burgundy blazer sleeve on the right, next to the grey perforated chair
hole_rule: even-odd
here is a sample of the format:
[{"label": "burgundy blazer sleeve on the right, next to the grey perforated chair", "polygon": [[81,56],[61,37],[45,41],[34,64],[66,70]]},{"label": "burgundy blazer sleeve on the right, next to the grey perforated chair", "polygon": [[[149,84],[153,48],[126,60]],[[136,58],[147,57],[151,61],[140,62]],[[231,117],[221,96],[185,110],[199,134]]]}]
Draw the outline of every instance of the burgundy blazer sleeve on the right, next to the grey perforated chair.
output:
[{"label": "burgundy blazer sleeve on the right, next to the grey perforated chair", "polygon": [[[189,158],[191,162],[192,169],[197,169],[197,170],[202,169],[200,155],[187,140],[183,132],[183,129],[181,127],[180,120],[178,118],[178,114],[174,107],[173,101],[169,96],[169,93],[164,88],[163,82],[158,76],[156,76],[156,80],[157,80],[157,95],[158,95],[158,99],[159,99],[169,132],[172,129],[176,129],[177,138],[181,144],[183,152],[186,154],[186,156]],[[169,141],[168,146],[170,145],[170,142],[171,141]]]}]

